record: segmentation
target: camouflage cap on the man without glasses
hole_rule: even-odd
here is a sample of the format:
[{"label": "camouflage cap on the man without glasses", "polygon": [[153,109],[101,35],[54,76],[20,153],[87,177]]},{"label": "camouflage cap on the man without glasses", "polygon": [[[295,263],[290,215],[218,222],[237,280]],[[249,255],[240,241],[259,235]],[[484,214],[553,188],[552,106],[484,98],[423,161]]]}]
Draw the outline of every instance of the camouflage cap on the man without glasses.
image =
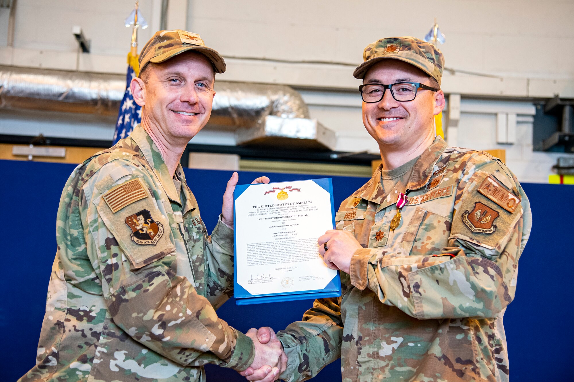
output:
[{"label": "camouflage cap on the man without glasses", "polygon": [[199,34],[180,29],[160,30],[146,42],[139,53],[139,72],[141,73],[148,63],[162,63],[187,50],[203,53],[211,61],[216,73],[225,72],[225,61],[217,50],[205,46]]}]

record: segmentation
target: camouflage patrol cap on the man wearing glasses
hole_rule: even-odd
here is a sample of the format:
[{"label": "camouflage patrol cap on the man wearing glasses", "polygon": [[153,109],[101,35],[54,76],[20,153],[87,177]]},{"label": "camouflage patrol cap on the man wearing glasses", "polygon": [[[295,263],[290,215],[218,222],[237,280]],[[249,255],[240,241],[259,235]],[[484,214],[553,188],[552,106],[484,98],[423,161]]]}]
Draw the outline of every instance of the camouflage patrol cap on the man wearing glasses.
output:
[{"label": "camouflage patrol cap on the man wearing glasses", "polygon": [[435,45],[410,36],[382,38],[367,45],[363,51],[364,63],[356,67],[353,76],[363,79],[373,64],[385,59],[401,60],[414,65],[440,85],[444,67],[443,53]]}]

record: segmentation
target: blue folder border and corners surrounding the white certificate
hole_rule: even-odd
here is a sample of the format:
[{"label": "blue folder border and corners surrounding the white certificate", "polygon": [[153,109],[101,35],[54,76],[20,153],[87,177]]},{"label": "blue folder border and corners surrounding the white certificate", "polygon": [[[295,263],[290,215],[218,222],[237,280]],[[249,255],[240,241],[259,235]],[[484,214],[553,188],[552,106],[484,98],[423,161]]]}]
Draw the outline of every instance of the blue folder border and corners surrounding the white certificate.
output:
[{"label": "blue folder border and corners surrounding the white certificate", "polygon": [[[323,189],[325,189],[331,195],[331,219],[333,223],[333,229],[335,228],[335,206],[333,205],[333,182],[331,178],[322,178],[322,179],[312,179],[313,182],[320,185]],[[285,183],[285,182],[281,182]],[[273,185],[273,183],[269,183],[269,185]],[[233,193],[234,204],[235,201],[245,190],[250,186],[257,186],[251,184],[244,184],[244,185],[237,185],[235,186],[235,191]],[[236,211],[234,209],[234,211]],[[235,212],[234,212],[235,214]],[[234,216],[235,219],[235,216]],[[234,256],[237,256],[237,237],[236,237],[236,230],[234,231],[234,245],[233,251]],[[235,257],[236,258],[236,257]],[[235,303],[237,305],[249,305],[249,304],[261,304],[267,302],[281,302],[281,301],[294,301],[294,300],[304,300],[304,299],[312,299],[312,298],[327,298],[327,297],[339,297],[341,295],[341,279],[339,276],[339,272],[333,277],[331,282],[325,286],[324,289],[319,290],[308,290],[308,291],[296,291],[296,292],[282,292],[282,293],[274,293],[274,294],[257,294],[253,295],[249,293],[245,288],[237,283],[237,262],[234,262],[234,274],[233,274],[233,297],[235,297]]]}]

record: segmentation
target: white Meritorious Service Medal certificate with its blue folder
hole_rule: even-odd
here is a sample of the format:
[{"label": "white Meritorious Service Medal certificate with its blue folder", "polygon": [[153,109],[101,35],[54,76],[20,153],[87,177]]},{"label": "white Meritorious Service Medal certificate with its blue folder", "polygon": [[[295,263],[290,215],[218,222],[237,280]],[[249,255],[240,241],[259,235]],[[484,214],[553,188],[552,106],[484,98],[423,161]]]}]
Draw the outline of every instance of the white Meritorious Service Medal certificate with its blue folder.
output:
[{"label": "white Meritorious Service Medal certificate with its blue folder", "polygon": [[236,186],[238,305],[340,295],[317,239],[333,229],[331,179]]}]

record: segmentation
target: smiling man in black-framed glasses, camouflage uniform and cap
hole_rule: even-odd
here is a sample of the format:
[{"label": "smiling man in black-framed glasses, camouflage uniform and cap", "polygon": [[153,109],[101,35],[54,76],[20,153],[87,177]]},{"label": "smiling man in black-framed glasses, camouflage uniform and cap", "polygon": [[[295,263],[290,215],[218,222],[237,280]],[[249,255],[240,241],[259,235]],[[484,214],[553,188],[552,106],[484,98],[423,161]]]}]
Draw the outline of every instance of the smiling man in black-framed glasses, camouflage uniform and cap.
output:
[{"label": "smiling man in black-framed glasses, camouflage uniform and cap", "polygon": [[435,137],[443,67],[440,50],[413,37],[364,49],[354,76],[382,164],[319,238],[343,294],[277,333],[282,379],[313,377],[339,356],[344,381],[509,379],[502,317],[532,216],[499,159]]}]

